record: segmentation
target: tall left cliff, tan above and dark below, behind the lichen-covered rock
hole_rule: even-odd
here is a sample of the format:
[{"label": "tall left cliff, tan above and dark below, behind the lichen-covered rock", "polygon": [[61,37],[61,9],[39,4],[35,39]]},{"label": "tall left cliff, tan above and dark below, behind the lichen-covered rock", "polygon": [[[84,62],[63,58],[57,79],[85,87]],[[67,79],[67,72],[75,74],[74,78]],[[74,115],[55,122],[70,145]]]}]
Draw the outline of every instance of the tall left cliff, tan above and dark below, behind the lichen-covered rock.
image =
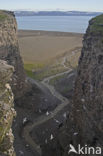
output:
[{"label": "tall left cliff, tan above and dark below, behind the lichen-covered rock", "polygon": [[16,19],[12,12],[0,11],[0,59],[14,67],[11,86],[15,99],[21,97],[27,90],[27,83],[19,52]]}]

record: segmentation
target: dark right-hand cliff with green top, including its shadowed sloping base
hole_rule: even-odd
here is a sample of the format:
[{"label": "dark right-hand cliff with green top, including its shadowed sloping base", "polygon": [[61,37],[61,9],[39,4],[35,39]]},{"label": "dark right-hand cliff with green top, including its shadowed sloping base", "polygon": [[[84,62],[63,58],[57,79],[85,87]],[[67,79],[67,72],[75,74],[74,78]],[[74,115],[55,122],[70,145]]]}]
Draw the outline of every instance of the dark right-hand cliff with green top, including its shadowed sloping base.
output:
[{"label": "dark right-hand cliff with green top, including its shadowed sloping base", "polygon": [[103,15],[89,22],[84,35],[71,105],[67,123],[54,142],[44,147],[45,156],[48,148],[52,149],[50,156],[68,156],[70,144],[76,149],[78,144],[103,148]]}]

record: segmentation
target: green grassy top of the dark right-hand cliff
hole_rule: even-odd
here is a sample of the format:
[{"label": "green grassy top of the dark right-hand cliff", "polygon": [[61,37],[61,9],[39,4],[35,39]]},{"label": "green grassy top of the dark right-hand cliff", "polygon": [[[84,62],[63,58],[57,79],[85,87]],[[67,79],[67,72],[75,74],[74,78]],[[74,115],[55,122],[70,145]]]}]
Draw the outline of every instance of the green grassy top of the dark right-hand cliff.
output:
[{"label": "green grassy top of the dark right-hand cliff", "polygon": [[99,15],[91,20],[90,32],[103,33],[103,15]]}]

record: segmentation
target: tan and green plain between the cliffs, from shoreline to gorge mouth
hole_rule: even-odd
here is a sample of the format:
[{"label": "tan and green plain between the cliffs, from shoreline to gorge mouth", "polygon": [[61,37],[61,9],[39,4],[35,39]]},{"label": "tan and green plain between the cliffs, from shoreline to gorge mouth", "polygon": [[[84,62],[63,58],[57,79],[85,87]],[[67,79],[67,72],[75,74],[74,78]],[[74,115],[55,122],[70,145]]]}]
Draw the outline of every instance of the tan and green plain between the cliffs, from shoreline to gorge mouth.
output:
[{"label": "tan and green plain between the cliffs, from shoreline to gorge mouth", "polygon": [[28,76],[42,80],[66,71],[67,67],[77,66],[82,46],[81,34],[45,32],[33,36],[33,33],[20,31],[19,34],[21,55]]}]

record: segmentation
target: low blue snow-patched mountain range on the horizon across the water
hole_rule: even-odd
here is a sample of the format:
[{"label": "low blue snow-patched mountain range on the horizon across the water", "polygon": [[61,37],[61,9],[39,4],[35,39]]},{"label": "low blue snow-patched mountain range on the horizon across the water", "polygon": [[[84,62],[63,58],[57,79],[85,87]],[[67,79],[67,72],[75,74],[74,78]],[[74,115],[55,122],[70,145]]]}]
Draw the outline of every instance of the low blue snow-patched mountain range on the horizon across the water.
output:
[{"label": "low blue snow-patched mountain range on the horizon across the water", "polygon": [[98,16],[102,12],[85,11],[14,11],[16,16]]}]

